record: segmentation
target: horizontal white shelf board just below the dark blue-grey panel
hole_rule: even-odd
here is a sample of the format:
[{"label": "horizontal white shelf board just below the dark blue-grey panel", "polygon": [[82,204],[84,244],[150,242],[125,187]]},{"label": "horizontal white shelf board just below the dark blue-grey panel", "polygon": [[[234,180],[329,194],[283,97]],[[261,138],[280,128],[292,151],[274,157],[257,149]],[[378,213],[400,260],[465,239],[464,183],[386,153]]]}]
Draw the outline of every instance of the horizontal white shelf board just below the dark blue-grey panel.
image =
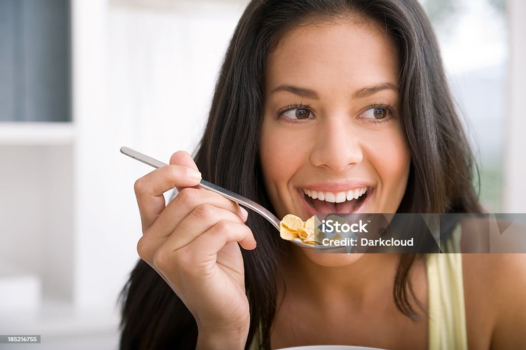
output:
[{"label": "horizontal white shelf board just below the dark blue-grey panel", "polygon": [[0,145],[68,145],[73,123],[0,122]]}]

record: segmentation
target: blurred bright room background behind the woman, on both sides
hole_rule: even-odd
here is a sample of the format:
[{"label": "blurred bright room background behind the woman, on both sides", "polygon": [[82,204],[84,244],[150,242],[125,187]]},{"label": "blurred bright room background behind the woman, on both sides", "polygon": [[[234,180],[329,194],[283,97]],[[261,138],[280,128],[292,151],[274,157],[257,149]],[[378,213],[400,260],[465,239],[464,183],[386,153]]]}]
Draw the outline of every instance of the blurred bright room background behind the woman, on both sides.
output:
[{"label": "blurred bright room background behind the woman, on both sides", "polygon": [[[194,151],[246,4],[0,0],[0,334],[42,335],[31,349],[117,348],[141,236],[133,184],[152,170],[119,148],[165,162]],[[526,213],[526,2],[422,4],[482,202]]]}]

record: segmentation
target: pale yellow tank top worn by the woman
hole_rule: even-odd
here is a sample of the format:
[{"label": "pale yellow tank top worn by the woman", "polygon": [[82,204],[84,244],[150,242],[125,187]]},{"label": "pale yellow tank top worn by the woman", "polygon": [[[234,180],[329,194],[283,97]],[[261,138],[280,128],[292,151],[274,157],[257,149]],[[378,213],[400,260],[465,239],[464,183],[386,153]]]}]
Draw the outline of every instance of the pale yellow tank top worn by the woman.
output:
[{"label": "pale yellow tank top worn by the woman", "polygon": [[[442,251],[458,252],[460,227]],[[427,257],[429,298],[428,350],[467,350],[466,308],[462,279],[462,254],[429,254]],[[258,350],[258,336],[250,350]]]}]

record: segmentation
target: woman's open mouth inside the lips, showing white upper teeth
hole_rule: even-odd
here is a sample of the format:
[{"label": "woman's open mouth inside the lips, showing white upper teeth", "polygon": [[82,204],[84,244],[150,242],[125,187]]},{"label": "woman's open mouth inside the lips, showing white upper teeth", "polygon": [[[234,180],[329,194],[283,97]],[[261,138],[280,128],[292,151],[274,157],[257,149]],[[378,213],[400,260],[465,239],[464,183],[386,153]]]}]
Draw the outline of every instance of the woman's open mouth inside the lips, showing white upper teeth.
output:
[{"label": "woman's open mouth inside the lips, showing white upper teeth", "polygon": [[356,212],[365,202],[373,189],[369,187],[353,188],[346,192],[310,191],[303,189],[305,202],[316,213],[341,213]]}]

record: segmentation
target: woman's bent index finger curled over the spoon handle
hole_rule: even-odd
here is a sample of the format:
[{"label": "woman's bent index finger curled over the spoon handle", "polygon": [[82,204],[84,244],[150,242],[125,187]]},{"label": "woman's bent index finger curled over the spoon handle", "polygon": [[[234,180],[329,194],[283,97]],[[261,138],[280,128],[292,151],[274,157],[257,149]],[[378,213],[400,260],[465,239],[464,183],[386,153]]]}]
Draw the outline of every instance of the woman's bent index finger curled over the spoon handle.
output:
[{"label": "woman's bent index finger curled over the spoon handle", "polygon": [[196,186],[201,174],[183,165],[167,165],[146,174],[135,182],[135,195],[139,206],[143,232],[151,226],[165,208],[163,193],[170,189]]}]

